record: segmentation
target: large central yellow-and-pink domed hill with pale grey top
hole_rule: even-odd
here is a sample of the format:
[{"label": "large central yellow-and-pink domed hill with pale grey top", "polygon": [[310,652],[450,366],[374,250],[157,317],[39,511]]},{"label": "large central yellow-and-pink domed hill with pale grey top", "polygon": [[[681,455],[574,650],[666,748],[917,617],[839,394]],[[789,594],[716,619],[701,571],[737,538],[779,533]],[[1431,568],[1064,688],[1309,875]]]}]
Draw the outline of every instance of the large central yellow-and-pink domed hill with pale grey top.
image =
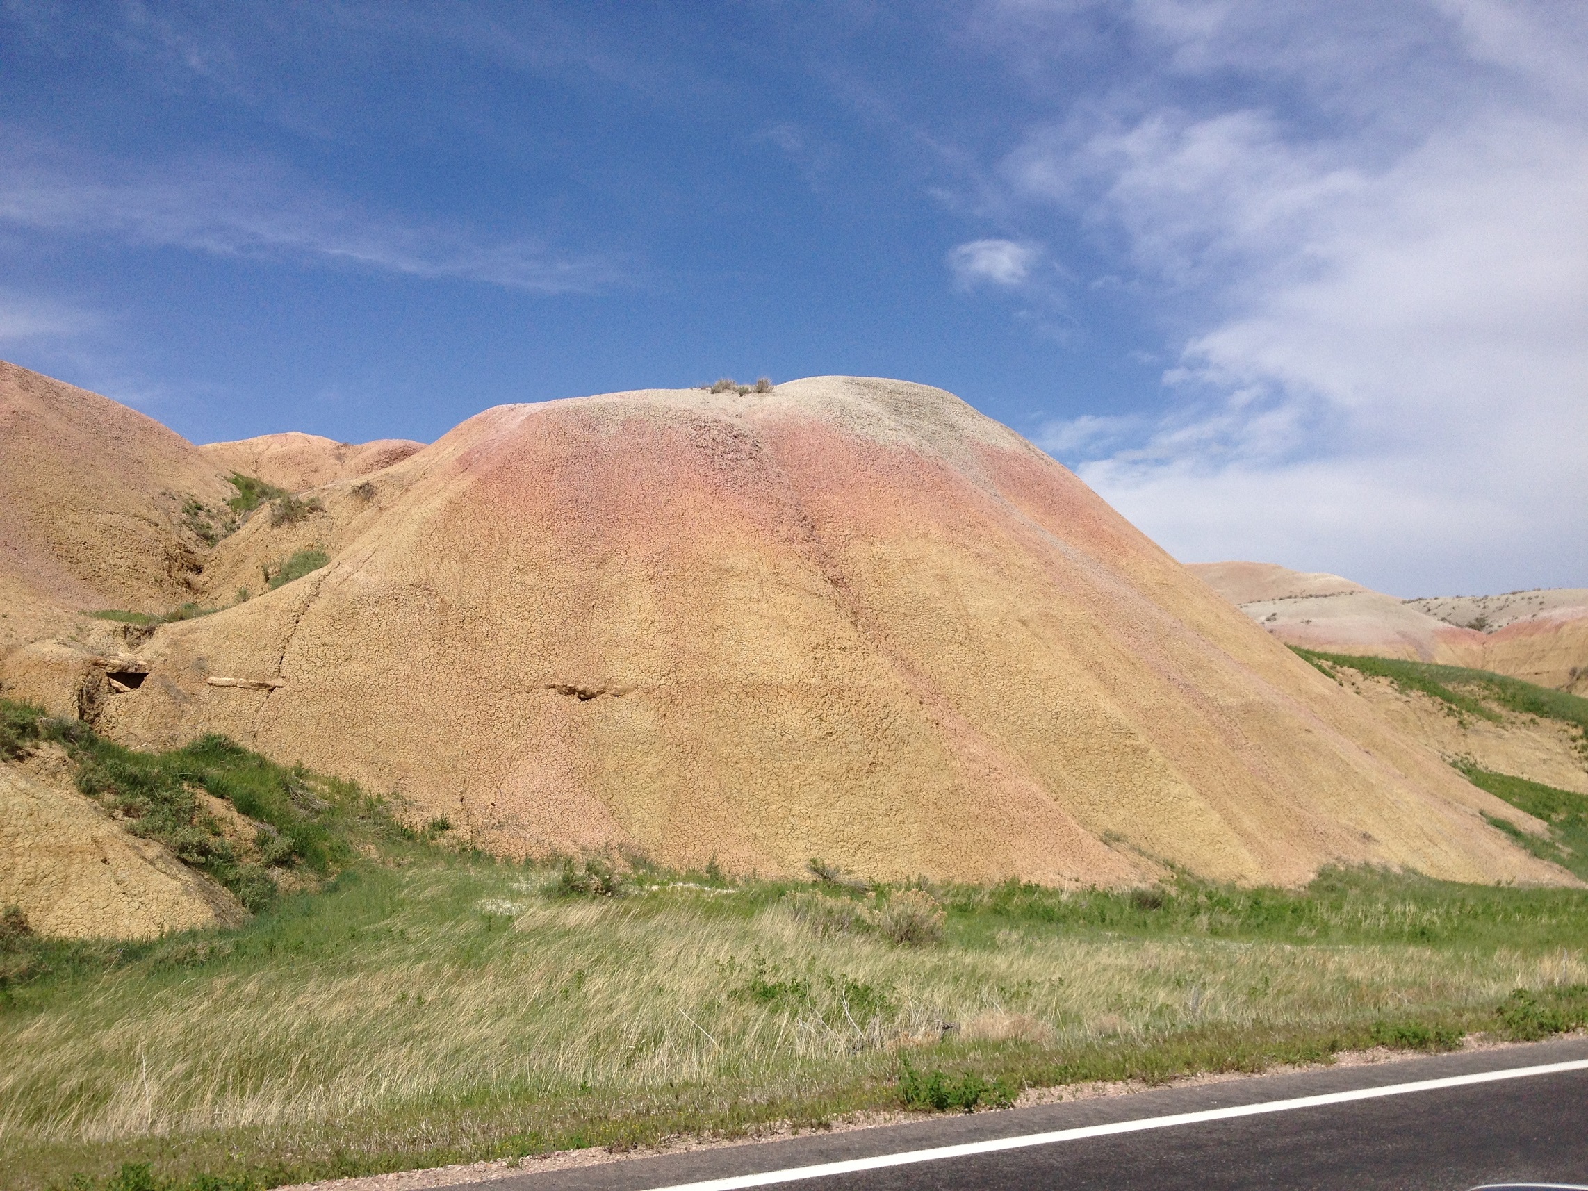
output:
[{"label": "large central yellow-and-pink domed hill with pale grey top", "polygon": [[[146,429],[22,380],[35,453],[84,402],[97,426]],[[149,435],[219,499],[235,454]],[[78,448],[52,483],[122,483],[102,478],[94,435]],[[141,499],[125,483],[95,499]],[[181,500],[181,483],[159,491]],[[260,594],[302,551],[329,564]],[[79,619],[5,656],[6,694],[138,746],[224,732],[510,856],[1100,885],[1164,862],[1237,881],[1334,862],[1569,880],[1483,816],[1536,821],[926,386],[488,410],[294,516],[259,510],[184,575],[229,607],[152,634]],[[232,603],[240,588],[254,594]]]}]

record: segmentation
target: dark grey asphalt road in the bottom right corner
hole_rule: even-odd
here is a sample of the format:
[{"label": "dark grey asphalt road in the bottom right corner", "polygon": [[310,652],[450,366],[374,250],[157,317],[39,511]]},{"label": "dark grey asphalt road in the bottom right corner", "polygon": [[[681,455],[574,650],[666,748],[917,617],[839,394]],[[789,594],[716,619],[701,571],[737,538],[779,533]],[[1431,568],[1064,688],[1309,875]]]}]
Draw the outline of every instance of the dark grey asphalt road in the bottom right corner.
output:
[{"label": "dark grey asphalt road in the bottom right corner", "polygon": [[[1370,1067],[1332,1067],[1040,1108],[945,1116],[846,1134],[526,1174],[476,1186],[489,1191],[649,1191],[823,1162],[1582,1059],[1588,1059],[1588,1040],[1567,1039]],[[799,1191],[1463,1191],[1478,1183],[1523,1180],[1588,1185],[1588,1069],[1167,1124],[775,1185]]]}]

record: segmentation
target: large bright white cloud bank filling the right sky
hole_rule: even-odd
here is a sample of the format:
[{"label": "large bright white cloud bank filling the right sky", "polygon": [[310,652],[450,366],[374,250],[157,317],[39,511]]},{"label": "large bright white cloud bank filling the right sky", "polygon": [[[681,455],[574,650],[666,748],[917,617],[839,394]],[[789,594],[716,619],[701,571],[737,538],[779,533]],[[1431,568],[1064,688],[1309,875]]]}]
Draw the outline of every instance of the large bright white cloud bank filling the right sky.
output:
[{"label": "large bright white cloud bank filling the right sky", "polygon": [[[1012,195],[1118,245],[1191,329],[1161,416],[1045,437],[1178,557],[1402,594],[1588,584],[1588,87],[1563,65],[1588,60],[1588,8],[1405,11],[1404,46],[1445,21],[1416,68],[1464,97],[1393,127],[1204,94],[1081,106],[1005,157]],[[1353,111],[1397,94],[1363,70],[1383,46],[1332,43],[1324,10],[1137,19],[1185,75],[1294,67]]]}]

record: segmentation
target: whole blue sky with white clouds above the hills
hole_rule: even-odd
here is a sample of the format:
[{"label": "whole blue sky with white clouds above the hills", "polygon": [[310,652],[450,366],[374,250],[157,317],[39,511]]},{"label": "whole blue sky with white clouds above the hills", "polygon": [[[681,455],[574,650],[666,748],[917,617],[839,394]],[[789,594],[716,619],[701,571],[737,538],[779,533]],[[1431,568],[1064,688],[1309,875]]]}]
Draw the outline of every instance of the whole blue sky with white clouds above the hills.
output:
[{"label": "whole blue sky with white clouds above the hills", "polygon": [[0,0],[0,357],[194,441],[950,389],[1175,557],[1588,586],[1588,0]]}]

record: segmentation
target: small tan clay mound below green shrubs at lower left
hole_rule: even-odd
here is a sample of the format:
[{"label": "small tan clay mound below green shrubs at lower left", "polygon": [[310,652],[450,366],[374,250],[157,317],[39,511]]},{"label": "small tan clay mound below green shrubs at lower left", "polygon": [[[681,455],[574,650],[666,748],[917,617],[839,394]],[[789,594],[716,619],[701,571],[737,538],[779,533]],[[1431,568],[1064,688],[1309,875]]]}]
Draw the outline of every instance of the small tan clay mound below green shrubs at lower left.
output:
[{"label": "small tan clay mound below green shrubs at lower left", "polygon": [[57,939],[152,939],[248,918],[230,892],[127,834],[68,780],[16,764],[0,764],[0,905]]}]

